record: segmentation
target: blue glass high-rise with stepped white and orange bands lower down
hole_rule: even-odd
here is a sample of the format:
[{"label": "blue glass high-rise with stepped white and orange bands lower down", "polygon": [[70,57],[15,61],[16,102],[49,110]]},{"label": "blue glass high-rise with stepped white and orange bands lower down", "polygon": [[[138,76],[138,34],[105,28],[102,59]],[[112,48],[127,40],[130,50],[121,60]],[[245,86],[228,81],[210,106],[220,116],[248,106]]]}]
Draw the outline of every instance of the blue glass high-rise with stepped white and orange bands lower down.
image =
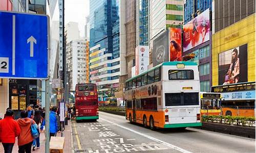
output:
[{"label": "blue glass high-rise with stepped white and orange bands lower down", "polygon": [[120,75],[119,1],[90,1],[90,81],[99,97],[113,96]]}]

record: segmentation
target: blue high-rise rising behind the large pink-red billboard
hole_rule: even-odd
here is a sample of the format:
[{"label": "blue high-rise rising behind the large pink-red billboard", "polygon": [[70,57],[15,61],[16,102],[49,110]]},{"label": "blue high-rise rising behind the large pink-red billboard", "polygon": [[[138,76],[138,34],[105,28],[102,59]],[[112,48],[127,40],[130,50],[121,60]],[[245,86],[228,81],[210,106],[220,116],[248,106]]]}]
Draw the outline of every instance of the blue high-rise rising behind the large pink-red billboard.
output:
[{"label": "blue high-rise rising behind the large pink-red billboard", "polygon": [[212,0],[186,0],[184,3],[184,23],[197,17],[199,13],[210,9]]}]

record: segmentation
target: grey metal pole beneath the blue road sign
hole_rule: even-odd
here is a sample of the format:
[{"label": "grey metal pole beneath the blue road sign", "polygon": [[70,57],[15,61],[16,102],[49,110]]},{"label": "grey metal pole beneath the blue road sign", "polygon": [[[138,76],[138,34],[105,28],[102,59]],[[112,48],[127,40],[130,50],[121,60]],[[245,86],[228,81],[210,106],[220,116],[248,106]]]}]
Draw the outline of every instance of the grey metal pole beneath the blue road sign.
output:
[{"label": "grey metal pole beneath the blue road sign", "polygon": [[46,80],[46,98],[45,98],[45,105],[46,105],[46,147],[45,147],[45,153],[48,153],[50,151],[50,93],[49,93],[49,86],[50,82],[49,79]]}]

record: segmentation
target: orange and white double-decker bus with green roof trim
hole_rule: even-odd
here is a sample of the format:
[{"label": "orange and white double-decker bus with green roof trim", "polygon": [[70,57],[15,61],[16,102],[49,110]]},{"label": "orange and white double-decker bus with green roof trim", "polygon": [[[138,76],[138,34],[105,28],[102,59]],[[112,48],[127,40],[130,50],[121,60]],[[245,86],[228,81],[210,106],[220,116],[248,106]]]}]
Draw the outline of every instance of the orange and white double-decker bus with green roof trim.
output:
[{"label": "orange and white double-decker bus with green roof trim", "polygon": [[125,82],[126,119],[155,127],[201,126],[194,62],[163,62]]}]

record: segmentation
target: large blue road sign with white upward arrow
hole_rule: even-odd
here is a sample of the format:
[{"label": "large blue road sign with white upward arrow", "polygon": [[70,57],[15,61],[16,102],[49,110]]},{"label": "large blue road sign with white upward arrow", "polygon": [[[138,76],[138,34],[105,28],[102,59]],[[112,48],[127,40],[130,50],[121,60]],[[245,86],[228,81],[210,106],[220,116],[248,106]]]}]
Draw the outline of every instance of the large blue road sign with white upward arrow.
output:
[{"label": "large blue road sign with white upward arrow", "polygon": [[48,77],[46,15],[0,11],[0,78]]}]

